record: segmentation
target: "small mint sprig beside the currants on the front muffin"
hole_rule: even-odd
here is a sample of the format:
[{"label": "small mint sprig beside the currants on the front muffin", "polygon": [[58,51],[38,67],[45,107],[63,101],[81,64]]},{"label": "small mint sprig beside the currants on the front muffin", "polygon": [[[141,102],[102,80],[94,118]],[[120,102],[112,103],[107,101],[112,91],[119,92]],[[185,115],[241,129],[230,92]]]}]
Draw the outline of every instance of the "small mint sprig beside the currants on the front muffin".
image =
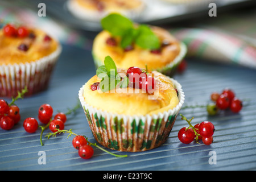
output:
[{"label": "small mint sprig beside the currants on the front muffin", "polygon": [[108,92],[120,86],[120,88],[126,88],[128,85],[127,78],[121,78],[118,75],[117,67],[110,56],[106,56],[104,65],[98,67],[96,75],[101,78],[100,89],[102,92]]}]

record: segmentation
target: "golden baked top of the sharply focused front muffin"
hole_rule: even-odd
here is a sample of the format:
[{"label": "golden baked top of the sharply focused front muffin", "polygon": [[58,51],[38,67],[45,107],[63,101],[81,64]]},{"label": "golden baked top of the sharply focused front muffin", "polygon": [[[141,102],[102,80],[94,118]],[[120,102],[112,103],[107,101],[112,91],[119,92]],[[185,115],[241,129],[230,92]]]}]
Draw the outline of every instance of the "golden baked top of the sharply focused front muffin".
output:
[{"label": "golden baked top of the sharply focused front muffin", "polygon": [[[117,69],[117,71],[121,77],[127,73],[127,69]],[[102,92],[99,88],[92,89],[95,83],[101,81],[101,78],[95,75],[84,85],[85,102],[96,109],[124,115],[152,115],[174,109],[179,104],[179,98],[173,82],[162,73],[153,71],[152,75],[157,84],[154,93],[151,94],[130,86],[127,88],[117,86],[109,92]]]}]

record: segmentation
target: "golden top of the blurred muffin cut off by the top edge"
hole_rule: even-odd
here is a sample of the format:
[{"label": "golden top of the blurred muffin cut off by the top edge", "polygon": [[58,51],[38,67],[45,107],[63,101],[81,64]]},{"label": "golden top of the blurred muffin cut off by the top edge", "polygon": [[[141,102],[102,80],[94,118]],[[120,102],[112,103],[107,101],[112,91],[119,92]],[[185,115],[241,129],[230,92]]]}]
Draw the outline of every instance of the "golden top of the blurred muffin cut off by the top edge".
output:
[{"label": "golden top of the blurred muffin cut off by the top edge", "polygon": [[122,11],[132,10],[142,6],[142,2],[139,0],[72,0],[88,10],[93,11]]}]

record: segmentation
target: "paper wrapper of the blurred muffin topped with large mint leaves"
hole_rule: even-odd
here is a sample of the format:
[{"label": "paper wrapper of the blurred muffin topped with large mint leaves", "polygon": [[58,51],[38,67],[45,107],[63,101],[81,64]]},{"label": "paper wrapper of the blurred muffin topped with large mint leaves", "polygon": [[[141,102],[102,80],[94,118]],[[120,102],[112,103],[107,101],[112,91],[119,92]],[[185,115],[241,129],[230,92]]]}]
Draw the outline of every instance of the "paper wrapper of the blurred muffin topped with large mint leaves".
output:
[{"label": "paper wrapper of the blurred muffin topped with large mint leaves", "polygon": [[[156,71],[163,73],[164,75],[167,75],[170,77],[174,76],[177,71],[177,67],[179,66],[181,61],[184,59],[186,54],[187,54],[187,46],[183,42],[180,42],[179,55],[177,55],[175,57],[175,59],[170,64],[166,65],[163,68],[156,69]],[[93,60],[94,60],[94,65],[97,69],[98,67],[100,67],[102,65],[102,60],[98,59],[98,57],[94,53],[92,53],[92,56],[93,56]]]}]

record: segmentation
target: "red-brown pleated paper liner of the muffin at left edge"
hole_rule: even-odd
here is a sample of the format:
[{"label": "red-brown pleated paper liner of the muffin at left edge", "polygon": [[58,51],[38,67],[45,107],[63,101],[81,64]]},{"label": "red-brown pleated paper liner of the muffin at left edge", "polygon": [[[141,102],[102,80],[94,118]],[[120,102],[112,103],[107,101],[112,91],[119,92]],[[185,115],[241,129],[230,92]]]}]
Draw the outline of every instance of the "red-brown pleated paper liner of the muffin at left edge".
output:
[{"label": "red-brown pleated paper liner of the muffin at left edge", "polygon": [[15,97],[25,86],[28,89],[26,96],[46,89],[60,53],[61,46],[31,63],[0,65],[0,97]]}]

